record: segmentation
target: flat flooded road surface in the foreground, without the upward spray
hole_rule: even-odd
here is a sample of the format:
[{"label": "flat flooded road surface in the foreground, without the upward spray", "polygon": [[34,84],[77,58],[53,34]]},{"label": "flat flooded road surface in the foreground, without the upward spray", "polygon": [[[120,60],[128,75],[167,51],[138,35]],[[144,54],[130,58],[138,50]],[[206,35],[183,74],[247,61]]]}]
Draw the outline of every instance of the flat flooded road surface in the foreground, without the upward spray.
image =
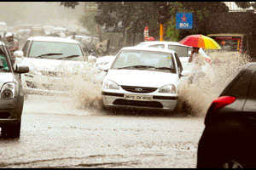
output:
[{"label": "flat flooded road surface in the foreground, without the upward spray", "polygon": [[79,110],[29,95],[20,139],[0,139],[0,167],[195,167],[203,117]]}]

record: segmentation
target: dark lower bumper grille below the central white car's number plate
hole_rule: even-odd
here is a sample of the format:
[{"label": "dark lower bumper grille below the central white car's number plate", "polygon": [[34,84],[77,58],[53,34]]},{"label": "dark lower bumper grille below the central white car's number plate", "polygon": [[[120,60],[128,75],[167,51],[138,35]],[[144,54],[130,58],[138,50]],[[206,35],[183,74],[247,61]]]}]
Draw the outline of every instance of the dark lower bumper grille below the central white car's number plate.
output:
[{"label": "dark lower bumper grille below the central white car's number plate", "polygon": [[137,106],[137,107],[148,107],[148,108],[163,108],[163,105],[157,101],[136,101],[126,99],[116,99],[113,105],[125,105],[125,106]]}]

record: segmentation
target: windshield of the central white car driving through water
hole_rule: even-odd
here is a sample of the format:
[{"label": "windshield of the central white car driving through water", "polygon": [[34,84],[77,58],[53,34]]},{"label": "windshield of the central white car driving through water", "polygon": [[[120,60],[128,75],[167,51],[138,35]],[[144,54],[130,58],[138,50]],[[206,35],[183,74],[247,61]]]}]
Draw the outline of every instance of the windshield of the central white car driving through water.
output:
[{"label": "windshield of the central white car driving through water", "polygon": [[145,50],[121,51],[113,62],[112,69],[176,72],[172,54]]}]

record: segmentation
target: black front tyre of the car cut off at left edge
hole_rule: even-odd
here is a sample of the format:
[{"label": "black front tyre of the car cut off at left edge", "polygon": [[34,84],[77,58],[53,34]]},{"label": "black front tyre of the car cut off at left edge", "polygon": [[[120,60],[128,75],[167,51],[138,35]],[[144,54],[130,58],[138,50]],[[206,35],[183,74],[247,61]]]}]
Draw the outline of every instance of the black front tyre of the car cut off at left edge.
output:
[{"label": "black front tyre of the car cut off at left edge", "polygon": [[16,125],[2,127],[2,136],[10,139],[20,138],[20,122]]}]

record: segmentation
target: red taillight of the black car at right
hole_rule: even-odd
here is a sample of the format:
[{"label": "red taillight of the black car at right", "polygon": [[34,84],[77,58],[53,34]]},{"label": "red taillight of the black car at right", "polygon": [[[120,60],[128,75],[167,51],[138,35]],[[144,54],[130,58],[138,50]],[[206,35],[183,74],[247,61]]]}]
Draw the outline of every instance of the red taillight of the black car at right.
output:
[{"label": "red taillight of the black car at right", "polygon": [[212,101],[212,105],[209,107],[208,112],[218,111],[218,109],[223,108],[226,105],[232,104],[236,100],[236,97],[232,96],[221,96],[218,99]]}]

